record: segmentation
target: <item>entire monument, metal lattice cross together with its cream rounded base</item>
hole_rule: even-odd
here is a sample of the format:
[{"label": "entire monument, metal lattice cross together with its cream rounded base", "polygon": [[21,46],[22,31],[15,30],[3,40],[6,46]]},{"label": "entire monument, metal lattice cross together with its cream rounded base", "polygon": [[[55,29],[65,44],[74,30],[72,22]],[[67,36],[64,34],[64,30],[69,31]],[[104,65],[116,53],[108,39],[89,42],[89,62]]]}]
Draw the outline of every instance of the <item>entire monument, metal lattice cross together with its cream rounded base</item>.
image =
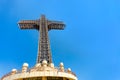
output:
[{"label": "entire monument, metal lattice cross together with its cream rounded base", "polygon": [[70,68],[65,69],[62,62],[59,67],[52,62],[48,31],[63,30],[63,22],[47,20],[42,15],[38,20],[22,20],[18,24],[21,29],[36,29],[40,33],[37,63],[33,68],[28,68],[29,65],[24,63],[22,70],[12,69],[2,80],[77,80],[76,75]]}]

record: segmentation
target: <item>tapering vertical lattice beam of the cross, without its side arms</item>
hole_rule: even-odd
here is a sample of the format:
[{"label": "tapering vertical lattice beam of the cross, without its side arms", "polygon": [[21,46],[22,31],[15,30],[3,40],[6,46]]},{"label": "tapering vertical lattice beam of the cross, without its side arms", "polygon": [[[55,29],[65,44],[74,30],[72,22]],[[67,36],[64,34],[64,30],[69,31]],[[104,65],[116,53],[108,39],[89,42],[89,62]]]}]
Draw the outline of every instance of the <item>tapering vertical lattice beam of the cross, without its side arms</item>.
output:
[{"label": "tapering vertical lattice beam of the cross, without its side arms", "polygon": [[48,26],[47,20],[44,15],[41,16],[40,19],[40,40],[39,40],[39,47],[38,47],[38,57],[37,63],[42,63],[45,59],[48,63],[52,62],[51,51],[50,51],[50,44],[48,38]]}]

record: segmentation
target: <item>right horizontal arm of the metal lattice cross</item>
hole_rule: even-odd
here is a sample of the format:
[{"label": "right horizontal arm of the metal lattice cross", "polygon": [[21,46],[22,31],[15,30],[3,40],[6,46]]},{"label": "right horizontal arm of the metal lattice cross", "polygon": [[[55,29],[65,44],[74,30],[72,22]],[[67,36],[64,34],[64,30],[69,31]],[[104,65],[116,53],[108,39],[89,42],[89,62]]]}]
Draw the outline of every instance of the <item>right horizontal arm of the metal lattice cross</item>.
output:
[{"label": "right horizontal arm of the metal lattice cross", "polygon": [[65,28],[65,24],[61,21],[48,21],[48,30],[51,29],[63,30],[64,28]]}]

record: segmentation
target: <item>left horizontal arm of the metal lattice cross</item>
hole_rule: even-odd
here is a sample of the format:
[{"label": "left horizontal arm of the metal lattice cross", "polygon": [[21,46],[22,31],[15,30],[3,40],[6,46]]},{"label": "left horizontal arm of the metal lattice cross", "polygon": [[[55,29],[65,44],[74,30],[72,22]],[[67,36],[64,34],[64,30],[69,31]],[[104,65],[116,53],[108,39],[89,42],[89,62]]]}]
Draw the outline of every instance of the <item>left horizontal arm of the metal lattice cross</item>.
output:
[{"label": "left horizontal arm of the metal lattice cross", "polygon": [[39,29],[39,20],[22,20],[18,24],[21,29]]}]

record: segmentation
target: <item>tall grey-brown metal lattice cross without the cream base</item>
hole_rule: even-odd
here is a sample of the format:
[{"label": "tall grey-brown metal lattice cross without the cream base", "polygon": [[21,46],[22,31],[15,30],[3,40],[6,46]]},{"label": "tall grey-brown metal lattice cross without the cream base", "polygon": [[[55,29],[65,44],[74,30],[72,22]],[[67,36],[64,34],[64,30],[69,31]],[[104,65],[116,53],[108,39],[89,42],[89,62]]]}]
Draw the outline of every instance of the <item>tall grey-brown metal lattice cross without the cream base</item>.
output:
[{"label": "tall grey-brown metal lattice cross without the cream base", "polygon": [[40,38],[38,43],[37,63],[42,63],[43,60],[52,63],[48,31],[52,29],[63,30],[65,24],[61,21],[47,20],[45,15],[41,15],[41,18],[38,20],[21,20],[18,24],[20,29],[36,29],[39,31]]}]

